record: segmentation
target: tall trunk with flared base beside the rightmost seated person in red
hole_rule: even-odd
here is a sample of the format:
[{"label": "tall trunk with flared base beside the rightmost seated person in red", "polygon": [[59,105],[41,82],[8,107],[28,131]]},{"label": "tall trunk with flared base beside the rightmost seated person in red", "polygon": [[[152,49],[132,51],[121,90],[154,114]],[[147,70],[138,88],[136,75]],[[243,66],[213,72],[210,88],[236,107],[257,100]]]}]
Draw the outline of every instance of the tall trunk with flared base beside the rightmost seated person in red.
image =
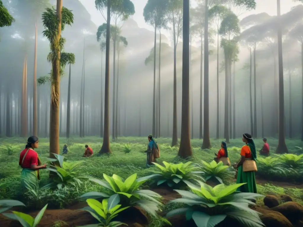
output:
[{"label": "tall trunk with flared base beside the rightmost seated person in red", "polygon": [[[278,20],[281,20],[280,0],[277,0]],[[279,138],[276,153],[288,153],[285,143],[285,122],[284,122],[284,81],[283,81],[283,54],[282,54],[282,28],[278,24],[278,61],[279,61]]]}]

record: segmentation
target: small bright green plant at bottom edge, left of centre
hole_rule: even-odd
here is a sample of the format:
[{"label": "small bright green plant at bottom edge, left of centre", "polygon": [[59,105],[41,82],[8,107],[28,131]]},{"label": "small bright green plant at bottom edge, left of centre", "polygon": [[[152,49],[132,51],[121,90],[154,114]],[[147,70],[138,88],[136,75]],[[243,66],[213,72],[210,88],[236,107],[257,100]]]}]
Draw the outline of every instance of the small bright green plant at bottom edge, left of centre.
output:
[{"label": "small bright green plant at bottom edge, left of centre", "polygon": [[127,225],[123,222],[112,221],[112,219],[117,217],[118,213],[127,209],[129,206],[119,209],[121,205],[113,203],[114,201],[108,203],[108,199],[103,199],[102,203],[95,199],[86,199],[86,202],[89,208],[83,209],[90,212],[91,215],[100,222],[99,224],[89,225],[90,227],[117,227]]}]

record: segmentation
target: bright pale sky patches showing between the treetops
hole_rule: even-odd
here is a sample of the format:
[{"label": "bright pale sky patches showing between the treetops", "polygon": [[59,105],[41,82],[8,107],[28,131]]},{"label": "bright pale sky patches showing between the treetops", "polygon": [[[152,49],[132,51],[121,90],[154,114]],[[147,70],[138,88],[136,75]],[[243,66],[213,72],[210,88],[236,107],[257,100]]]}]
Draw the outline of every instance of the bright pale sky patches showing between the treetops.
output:
[{"label": "bright pale sky patches showing between the treetops", "polygon": [[[194,0],[191,0],[194,3]],[[250,14],[257,14],[261,12],[266,12],[269,15],[277,15],[277,0],[255,0],[257,2],[256,10],[244,12],[239,15],[239,18],[244,18]],[[82,4],[85,6],[87,11],[92,15],[92,21],[97,25],[102,25],[104,23],[104,19],[99,11],[95,8],[94,0],[80,0]],[[145,24],[143,17],[143,8],[146,5],[147,0],[132,0],[135,5],[135,15],[133,19],[138,23],[138,26],[141,28],[147,28],[149,30],[153,30],[153,28],[147,24]],[[288,12],[293,6],[298,5],[298,3],[294,3],[292,0],[282,0],[281,1],[281,14]],[[243,11],[241,11],[243,12]]]}]

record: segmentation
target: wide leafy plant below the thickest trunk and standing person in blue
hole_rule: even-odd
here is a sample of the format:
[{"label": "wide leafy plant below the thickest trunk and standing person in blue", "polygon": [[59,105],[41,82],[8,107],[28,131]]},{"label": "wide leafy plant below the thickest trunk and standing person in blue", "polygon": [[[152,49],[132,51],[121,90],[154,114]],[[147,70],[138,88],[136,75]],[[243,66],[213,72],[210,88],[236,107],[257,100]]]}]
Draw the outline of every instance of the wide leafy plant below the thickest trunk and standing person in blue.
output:
[{"label": "wide leafy plant below the thickest trunk and standing person in blue", "polygon": [[163,161],[164,166],[154,163],[159,170],[153,171],[154,174],[142,177],[141,179],[152,179],[152,183],[156,183],[157,186],[166,183],[169,187],[183,186],[185,180],[202,180],[204,179],[198,175],[198,173],[204,173],[202,171],[195,171],[199,168],[194,166],[192,162],[187,163],[167,163]]}]

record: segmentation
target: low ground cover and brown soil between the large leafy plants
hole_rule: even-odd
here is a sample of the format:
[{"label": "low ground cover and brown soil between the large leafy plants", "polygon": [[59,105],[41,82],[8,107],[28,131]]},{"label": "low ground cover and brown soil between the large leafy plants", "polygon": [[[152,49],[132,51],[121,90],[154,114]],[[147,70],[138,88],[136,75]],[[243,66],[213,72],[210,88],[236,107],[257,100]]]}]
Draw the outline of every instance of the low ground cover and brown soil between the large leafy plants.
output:
[{"label": "low ground cover and brown soil between the large leafy plants", "polygon": [[[25,139],[23,138],[0,138],[0,146],[11,146],[13,148],[13,153],[8,155],[6,151],[0,149],[0,199],[18,199],[27,205],[27,213],[35,216],[37,210],[41,209],[46,203],[48,203],[48,209],[43,216],[39,227],[63,227],[63,226],[80,226],[95,223],[95,219],[88,213],[82,210],[78,210],[87,206],[84,201],[78,199],[79,196],[85,192],[90,191],[100,191],[100,186],[96,186],[95,183],[85,182],[81,186],[75,189],[65,188],[54,191],[52,194],[45,194],[41,190],[41,199],[39,201],[28,200],[25,201],[21,196],[20,188],[20,173],[21,169],[18,166],[19,153],[23,150],[25,146]],[[60,138],[60,147],[62,148],[64,144],[68,144],[68,154],[65,155],[68,160],[84,160],[85,162],[79,167],[79,171],[84,175],[92,176],[98,179],[103,178],[103,173],[112,176],[117,174],[122,178],[126,179],[133,173],[137,173],[138,177],[147,176],[150,174],[150,170],[146,168],[146,154],[144,151],[147,147],[146,137],[122,137],[111,143],[111,155],[102,155],[97,157],[98,151],[102,146],[102,139],[99,137],[85,137],[85,138],[72,138],[66,140],[65,138]],[[157,143],[160,146],[161,157],[157,159],[158,163],[166,161],[169,163],[184,162],[184,160],[177,157],[178,147],[170,147],[171,139],[160,138],[157,139]],[[268,143],[272,151],[278,145],[278,140],[275,138],[268,138]],[[83,158],[82,155],[85,150],[85,144],[92,147],[94,155],[89,158]],[[217,153],[221,140],[211,140],[212,148],[209,150],[201,150],[202,140],[194,139],[191,140],[192,150],[194,156],[188,160],[201,163],[200,160],[205,160],[206,162],[211,162],[214,158],[214,153]],[[262,140],[255,140],[257,150],[261,149]],[[286,140],[286,144],[291,153],[300,153],[300,147],[303,143],[300,140]],[[240,155],[238,148],[243,146],[241,139],[231,140],[228,145],[229,158],[231,163],[235,163]],[[126,153],[130,150],[129,153]],[[47,163],[47,157],[49,152],[48,139],[39,140],[39,148],[36,149],[42,163]],[[274,153],[274,152],[272,152]],[[186,160],[186,161],[188,161]],[[154,167],[152,167],[154,168]],[[43,186],[48,180],[48,172],[40,171],[40,185]],[[293,184],[291,182],[275,182],[274,179],[271,181],[258,179],[257,189],[258,193],[263,195],[276,194],[276,195],[289,195],[293,198],[295,202],[303,204],[303,184]],[[229,179],[226,184],[234,183],[234,179]],[[179,195],[175,191],[170,189],[151,189],[155,192],[161,194],[164,198],[164,203],[178,198]],[[263,200],[257,200],[259,206],[264,206]],[[172,209],[172,205],[166,205],[165,210]],[[14,208],[14,210],[16,210]],[[24,210],[22,210],[24,212]],[[140,213],[141,214],[141,213]],[[122,218],[123,222],[129,224],[129,226],[139,227],[139,226],[149,226],[149,227],[161,227],[166,226],[166,224],[161,219],[151,219],[147,220],[145,217],[137,215],[136,220],[129,220],[130,215],[125,213]],[[133,215],[131,215],[133,217]],[[180,219],[180,217],[170,218],[169,221],[172,226],[185,226],[185,220]],[[4,218],[0,215],[0,226],[19,226],[14,221]]]}]

